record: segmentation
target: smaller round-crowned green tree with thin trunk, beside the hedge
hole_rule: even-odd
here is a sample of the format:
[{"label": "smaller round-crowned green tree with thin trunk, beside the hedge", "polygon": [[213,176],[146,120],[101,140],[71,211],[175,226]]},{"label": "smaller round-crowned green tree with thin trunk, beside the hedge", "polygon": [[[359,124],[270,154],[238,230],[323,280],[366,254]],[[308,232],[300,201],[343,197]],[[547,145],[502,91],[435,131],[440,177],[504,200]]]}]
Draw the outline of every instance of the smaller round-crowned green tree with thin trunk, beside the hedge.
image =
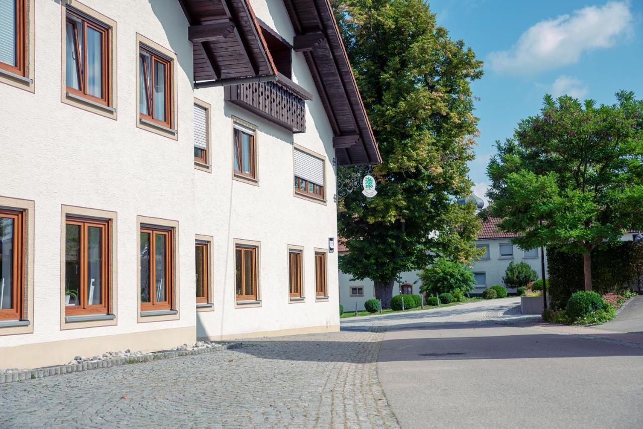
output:
[{"label": "smaller round-crowned green tree with thin trunk, beside the hedge", "polygon": [[622,91],[597,105],[545,96],[541,112],[497,142],[489,162],[489,214],[523,249],[555,247],[584,257],[643,226],[643,102]]}]

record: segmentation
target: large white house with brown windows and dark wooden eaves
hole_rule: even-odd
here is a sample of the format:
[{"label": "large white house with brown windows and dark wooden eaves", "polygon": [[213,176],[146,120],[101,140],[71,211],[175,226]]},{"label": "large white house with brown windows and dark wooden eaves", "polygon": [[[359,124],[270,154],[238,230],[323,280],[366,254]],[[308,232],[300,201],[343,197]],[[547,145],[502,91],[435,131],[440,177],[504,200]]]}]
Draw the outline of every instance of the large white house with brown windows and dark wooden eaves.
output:
[{"label": "large white house with brown windows and dark wooden eaves", "polygon": [[339,329],[325,0],[0,0],[0,368]]}]

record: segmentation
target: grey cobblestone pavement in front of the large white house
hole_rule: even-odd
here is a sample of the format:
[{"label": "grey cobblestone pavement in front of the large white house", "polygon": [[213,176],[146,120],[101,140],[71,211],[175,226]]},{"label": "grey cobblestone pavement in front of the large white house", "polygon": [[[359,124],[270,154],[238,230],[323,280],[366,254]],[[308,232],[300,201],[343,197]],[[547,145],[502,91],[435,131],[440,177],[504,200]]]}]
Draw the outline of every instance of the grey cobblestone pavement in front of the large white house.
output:
[{"label": "grey cobblestone pavement in front of the large white house", "polygon": [[0,428],[397,427],[377,381],[383,333],[239,349],[0,385]]}]

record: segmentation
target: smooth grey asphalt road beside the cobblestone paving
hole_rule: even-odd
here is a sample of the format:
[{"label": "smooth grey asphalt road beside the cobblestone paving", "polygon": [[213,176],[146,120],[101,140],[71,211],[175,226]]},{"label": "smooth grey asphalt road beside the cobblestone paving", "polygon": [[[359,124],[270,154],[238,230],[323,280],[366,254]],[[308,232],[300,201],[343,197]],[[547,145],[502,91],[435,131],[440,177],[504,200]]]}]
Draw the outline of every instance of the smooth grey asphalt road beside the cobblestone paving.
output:
[{"label": "smooth grey asphalt road beside the cobblestone paving", "polygon": [[489,305],[387,324],[377,373],[403,428],[643,428],[643,347],[498,324]]}]

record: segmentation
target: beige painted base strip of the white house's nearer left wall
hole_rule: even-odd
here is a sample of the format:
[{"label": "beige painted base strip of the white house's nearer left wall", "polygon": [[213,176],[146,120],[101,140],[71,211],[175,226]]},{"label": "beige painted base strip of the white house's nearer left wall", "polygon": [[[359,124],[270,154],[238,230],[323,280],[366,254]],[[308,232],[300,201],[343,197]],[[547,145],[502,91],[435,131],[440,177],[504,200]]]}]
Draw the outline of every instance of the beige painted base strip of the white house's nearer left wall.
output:
[{"label": "beige painted base strip of the white house's nearer left wall", "polygon": [[195,327],[156,329],[137,333],[77,338],[0,348],[0,368],[31,369],[63,365],[75,356],[96,356],[107,351],[158,351],[196,341]]}]

